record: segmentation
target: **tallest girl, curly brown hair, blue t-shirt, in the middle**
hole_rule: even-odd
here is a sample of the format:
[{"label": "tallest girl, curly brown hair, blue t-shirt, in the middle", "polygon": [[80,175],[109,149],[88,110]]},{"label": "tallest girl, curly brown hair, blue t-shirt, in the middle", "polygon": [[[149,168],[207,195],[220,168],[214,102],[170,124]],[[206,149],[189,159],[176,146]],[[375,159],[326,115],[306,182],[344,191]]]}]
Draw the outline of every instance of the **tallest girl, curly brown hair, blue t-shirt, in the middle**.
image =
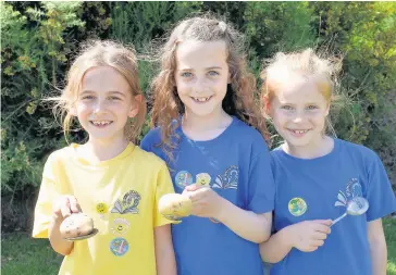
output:
[{"label": "tallest girl, curly brown hair, blue t-shirt, in the middle", "polygon": [[193,201],[172,227],[180,275],[263,273],[258,243],[271,233],[274,185],[239,38],[222,21],[185,20],[153,80],[158,127],[141,148],[169,163],[176,192]]}]

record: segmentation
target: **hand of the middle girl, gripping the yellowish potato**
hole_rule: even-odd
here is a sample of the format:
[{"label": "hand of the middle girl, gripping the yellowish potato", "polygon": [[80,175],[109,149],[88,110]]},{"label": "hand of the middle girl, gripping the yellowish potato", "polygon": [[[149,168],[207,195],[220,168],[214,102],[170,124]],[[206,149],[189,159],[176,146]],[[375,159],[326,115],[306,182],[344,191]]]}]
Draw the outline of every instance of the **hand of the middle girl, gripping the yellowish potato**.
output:
[{"label": "hand of the middle girl, gripping the yellowish potato", "polygon": [[202,217],[216,218],[221,211],[221,204],[224,201],[212,188],[200,187],[195,184],[186,186],[183,195],[188,196],[193,202],[191,214]]}]

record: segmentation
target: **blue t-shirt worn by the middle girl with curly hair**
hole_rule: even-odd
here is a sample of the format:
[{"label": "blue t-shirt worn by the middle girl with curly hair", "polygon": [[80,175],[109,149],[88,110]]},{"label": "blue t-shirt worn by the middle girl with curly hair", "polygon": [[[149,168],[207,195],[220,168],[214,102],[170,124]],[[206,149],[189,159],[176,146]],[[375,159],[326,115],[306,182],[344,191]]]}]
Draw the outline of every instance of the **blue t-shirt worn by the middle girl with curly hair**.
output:
[{"label": "blue t-shirt worn by the middle girl with curly hair", "polygon": [[[235,205],[267,213],[274,205],[274,182],[268,147],[259,132],[236,117],[216,138],[195,141],[181,128],[180,145],[170,164],[175,191],[203,182]],[[152,129],[141,148],[168,160],[160,129]],[[178,275],[262,275],[259,246],[213,218],[188,216],[172,225]]]}]

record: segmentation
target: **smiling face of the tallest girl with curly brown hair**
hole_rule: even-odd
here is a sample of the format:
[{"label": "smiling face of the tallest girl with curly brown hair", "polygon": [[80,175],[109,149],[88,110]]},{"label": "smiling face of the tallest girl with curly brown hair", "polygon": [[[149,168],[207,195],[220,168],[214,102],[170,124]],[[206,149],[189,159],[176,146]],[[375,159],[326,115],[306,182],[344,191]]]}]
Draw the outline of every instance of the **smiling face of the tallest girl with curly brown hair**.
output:
[{"label": "smiling face of the tallest girl with curly brown hair", "polygon": [[230,80],[224,41],[183,41],[176,50],[175,82],[187,115],[220,114]]}]

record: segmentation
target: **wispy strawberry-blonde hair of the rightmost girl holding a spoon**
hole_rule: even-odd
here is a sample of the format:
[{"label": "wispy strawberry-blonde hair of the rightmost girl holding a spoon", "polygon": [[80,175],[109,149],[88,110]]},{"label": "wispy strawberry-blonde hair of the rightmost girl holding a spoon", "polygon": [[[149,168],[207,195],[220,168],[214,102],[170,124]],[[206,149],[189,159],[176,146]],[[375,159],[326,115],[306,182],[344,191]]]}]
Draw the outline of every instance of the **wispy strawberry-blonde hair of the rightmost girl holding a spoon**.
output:
[{"label": "wispy strawberry-blonde hair of the rightmost girl holding a spoon", "polygon": [[[261,72],[261,99],[264,104],[271,102],[280,89],[280,86],[287,80],[287,76],[299,74],[313,80],[319,92],[325,98],[330,105],[342,102],[342,95],[337,95],[337,74],[342,68],[342,59],[322,58],[311,48],[301,52],[283,53],[279,52],[275,57],[267,61],[267,67]],[[265,110],[265,109],[264,109]],[[268,115],[265,113],[265,115]],[[334,128],[326,118],[326,128],[334,135]]]}]

